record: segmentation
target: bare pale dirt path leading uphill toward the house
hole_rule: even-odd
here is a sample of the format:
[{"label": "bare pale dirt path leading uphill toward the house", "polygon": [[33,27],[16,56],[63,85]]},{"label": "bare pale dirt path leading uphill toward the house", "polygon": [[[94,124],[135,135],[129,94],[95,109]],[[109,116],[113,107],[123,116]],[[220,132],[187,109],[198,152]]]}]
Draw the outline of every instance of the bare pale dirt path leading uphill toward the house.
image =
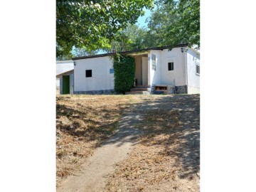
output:
[{"label": "bare pale dirt path leading uphill toward the house", "polygon": [[119,129],[102,147],[97,149],[82,166],[82,171],[60,183],[58,192],[80,191],[93,192],[103,191],[106,176],[114,171],[114,164],[124,160],[134,144],[136,144],[141,130],[135,129],[140,116],[134,112],[128,112],[119,122]]}]

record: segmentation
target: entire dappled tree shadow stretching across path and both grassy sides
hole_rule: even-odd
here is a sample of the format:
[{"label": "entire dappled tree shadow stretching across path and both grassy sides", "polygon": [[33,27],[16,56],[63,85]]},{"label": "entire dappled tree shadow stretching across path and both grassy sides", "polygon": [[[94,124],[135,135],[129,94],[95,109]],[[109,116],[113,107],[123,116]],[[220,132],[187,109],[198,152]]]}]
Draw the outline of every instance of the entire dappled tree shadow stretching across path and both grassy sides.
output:
[{"label": "entire dappled tree shadow stretching across path and both grassy sides", "polygon": [[[119,107],[113,110],[103,109],[103,114],[93,107],[86,107],[90,114],[101,115],[104,119],[110,119],[119,112]],[[59,125],[60,127],[57,125],[57,129],[61,129],[65,134],[80,137],[85,142],[105,141],[99,142],[97,146],[101,144],[122,146],[126,142],[137,144],[142,131],[134,128],[146,124],[146,127],[142,127],[144,136],[139,139],[139,144],[163,147],[164,150],[159,151],[159,154],[171,156],[176,159],[175,164],[182,167],[178,172],[180,178],[193,178],[193,174],[197,174],[200,170],[200,95],[142,97],[142,102],[136,105],[130,103],[122,108],[125,115],[119,122],[117,120],[102,123],[90,118],[81,119],[88,115],[87,111],[75,110],[65,105],[57,105],[56,110],[57,118],[65,116],[78,119],[73,124],[62,124]],[[154,122],[154,119],[157,119],[157,122]],[[79,120],[85,122],[87,126],[82,127]],[[119,132],[113,135],[117,127]],[[160,135],[165,137],[158,137]]]}]

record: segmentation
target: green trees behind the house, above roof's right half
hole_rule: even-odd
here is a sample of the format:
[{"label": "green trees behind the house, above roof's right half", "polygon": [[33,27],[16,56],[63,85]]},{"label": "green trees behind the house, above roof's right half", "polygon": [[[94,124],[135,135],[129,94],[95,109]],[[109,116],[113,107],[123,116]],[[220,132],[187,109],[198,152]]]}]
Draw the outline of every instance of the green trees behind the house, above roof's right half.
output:
[{"label": "green trees behind the house, above roof's right half", "polygon": [[[148,28],[128,25],[117,33],[112,48],[117,52],[157,46],[178,45],[200,47],[200,1],[159,0],[147,18]],[[110,52],[107,51],[107,52]]]}]

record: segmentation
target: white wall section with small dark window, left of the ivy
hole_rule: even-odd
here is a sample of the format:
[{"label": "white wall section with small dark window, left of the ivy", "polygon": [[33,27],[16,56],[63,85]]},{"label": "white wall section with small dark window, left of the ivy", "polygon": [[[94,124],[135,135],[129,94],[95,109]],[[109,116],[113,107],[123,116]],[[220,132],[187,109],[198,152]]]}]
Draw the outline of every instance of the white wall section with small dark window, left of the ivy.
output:
[{"label": "white wall section with small dark window, left of the ivy", "polygon": [[[75,60],[74,91],[114,90],[112,66],[110,57]],[[85,78],[85,70],[92,70],[92,78]]]}]

